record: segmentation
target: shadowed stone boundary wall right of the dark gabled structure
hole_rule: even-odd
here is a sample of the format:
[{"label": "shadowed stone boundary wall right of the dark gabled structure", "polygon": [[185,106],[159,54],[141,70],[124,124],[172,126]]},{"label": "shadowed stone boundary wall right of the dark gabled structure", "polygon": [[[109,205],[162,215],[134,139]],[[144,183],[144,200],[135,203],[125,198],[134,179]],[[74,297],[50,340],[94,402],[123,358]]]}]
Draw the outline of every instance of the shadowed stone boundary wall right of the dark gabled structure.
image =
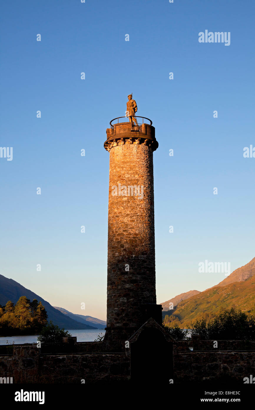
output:
[{"label": "shadowed stone boundary wall right of the dark gabled structure", "polygon": [[218,347],[213,345],[213,340],[174,344],[174,383],[244,383],[244,377],[255,376],[254,341],[218,340]]}]

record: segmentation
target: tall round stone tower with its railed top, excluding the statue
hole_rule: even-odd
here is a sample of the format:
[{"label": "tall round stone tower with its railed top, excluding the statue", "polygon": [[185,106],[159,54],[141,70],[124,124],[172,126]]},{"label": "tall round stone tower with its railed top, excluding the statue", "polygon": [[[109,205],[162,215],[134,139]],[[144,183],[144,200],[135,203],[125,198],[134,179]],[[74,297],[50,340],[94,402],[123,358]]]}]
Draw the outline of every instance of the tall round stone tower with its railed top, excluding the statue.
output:
[{"label": "tall round stone tower with its railed top, excluding the statue", "polygon": [[[119,117],[124,118],[124,117]],[[105,342],[124,348],[151,317],[156,305],[152,121],[119,122],[106,130],[110,153],[108,207],[107,327]]]}]

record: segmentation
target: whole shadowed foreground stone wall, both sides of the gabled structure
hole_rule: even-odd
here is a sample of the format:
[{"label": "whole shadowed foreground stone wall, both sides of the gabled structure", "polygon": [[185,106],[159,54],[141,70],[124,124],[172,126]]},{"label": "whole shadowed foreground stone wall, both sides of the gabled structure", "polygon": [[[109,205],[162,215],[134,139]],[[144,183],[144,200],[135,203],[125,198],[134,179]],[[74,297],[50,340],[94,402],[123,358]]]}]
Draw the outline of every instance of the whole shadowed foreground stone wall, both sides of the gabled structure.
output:
[{"label": "whole shadowed foreground stone wall, both sides of the gabled structure", "polygon": [[[219,345],[214,349],[212,340],[174,343],[174,383],[243,384],[244,377],[255,376],[255,342],[219,341]],[[4,352],[12,346],[1,347]],[[14,345],[12,355],[0,353],[0,377],[13,377],[13,383],[128,382],[130,356],[99,352],[101,348],[99,342],[77,343],[72,348],[52,344],[42,353],[36,345]]]}]

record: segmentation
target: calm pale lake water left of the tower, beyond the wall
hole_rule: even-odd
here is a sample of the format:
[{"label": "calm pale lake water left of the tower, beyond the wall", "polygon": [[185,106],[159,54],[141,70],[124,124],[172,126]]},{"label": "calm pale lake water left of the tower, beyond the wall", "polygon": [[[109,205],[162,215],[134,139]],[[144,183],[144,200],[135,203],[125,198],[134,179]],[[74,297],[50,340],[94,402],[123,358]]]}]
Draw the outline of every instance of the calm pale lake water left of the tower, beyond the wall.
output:
[{"label": "calm pale lake water left of the tower, beyond the wall", "polygon": [[[77,336],[77,342],[94,342],[97,339],[99,333],[105,334],[105,330],[101,329],[80,329],[80,330],[68,330],[72,336]],[[22,344],[22,343],[35,343],[37,342],[38,335],[32,336],[5,336],[0,337],[0,344]]]}]

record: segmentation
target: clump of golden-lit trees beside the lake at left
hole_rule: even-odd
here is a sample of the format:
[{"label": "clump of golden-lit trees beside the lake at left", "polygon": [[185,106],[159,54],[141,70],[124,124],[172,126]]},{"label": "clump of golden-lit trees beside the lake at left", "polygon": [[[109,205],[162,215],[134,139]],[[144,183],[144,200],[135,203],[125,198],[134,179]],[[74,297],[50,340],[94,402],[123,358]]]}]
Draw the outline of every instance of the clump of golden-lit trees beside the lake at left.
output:
[{"label": "clump of golden-lit trees beside the lake at left", "polygon": [[47,312],[43,304],[26,296],[20,296],[16,305],[8,301],[0,305],[0,335],[32,335],[47,324]]}]

